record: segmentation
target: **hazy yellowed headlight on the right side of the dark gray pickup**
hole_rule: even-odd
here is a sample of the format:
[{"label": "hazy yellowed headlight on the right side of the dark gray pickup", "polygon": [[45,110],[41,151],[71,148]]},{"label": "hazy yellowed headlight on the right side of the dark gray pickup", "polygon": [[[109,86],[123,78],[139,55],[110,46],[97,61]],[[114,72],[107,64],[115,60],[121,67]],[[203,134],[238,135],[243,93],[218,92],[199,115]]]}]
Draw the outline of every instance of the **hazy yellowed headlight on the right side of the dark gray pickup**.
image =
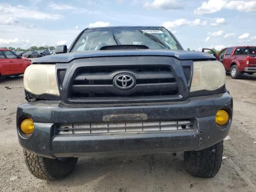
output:
[{"label": "hazy yellowed headlight on the right side of the dark gray pickup", "polygon": [[195,61],[190,92],[213,91],[226,82],[226,71],[219,61]]}]

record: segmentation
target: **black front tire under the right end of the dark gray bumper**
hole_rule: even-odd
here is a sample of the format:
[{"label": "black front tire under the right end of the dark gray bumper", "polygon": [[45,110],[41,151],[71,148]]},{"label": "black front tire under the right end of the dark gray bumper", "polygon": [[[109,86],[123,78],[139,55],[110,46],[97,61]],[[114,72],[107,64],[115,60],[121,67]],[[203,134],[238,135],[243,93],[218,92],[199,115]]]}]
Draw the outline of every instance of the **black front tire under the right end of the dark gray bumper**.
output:
[{"label": "black front tire under the right end of the dark gray bumper", "polygon": [[186,170],[196,177],[212,178],[220,170],[223,141],[200,151],[184,152]]}]

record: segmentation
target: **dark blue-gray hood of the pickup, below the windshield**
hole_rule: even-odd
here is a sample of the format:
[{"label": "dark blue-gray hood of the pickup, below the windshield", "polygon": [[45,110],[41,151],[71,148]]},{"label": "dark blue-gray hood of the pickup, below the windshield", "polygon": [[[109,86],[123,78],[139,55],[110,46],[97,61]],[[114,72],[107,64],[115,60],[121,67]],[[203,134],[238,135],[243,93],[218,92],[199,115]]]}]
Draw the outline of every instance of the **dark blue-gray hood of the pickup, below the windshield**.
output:
[{"label": "dark blue-gray hood of the pickup, below the windshield", "polygon": [[114,51],[84,51],[44,56],[34,60],[33,64],[67,63],[78,58],[108,57],[108,56],[171,56],[179,60],[216,60],[208,53],[184,50],[114,50]]}]

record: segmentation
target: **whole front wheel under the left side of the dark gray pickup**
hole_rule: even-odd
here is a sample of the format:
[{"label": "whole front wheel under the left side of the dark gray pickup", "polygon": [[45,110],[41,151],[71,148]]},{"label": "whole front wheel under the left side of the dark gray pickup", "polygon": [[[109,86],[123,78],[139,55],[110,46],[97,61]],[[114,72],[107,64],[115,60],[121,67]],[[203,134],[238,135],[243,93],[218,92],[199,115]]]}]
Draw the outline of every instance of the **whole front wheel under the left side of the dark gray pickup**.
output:
[{"label": "whole front wheel under the left side of the dark gray pickup", "polygon": [[23,150],[25,162],[32,175],[39,179],[55,180],[61,179],[74,169],[78,158],[57,158],[50,159],[38,156],[37,154]]}]

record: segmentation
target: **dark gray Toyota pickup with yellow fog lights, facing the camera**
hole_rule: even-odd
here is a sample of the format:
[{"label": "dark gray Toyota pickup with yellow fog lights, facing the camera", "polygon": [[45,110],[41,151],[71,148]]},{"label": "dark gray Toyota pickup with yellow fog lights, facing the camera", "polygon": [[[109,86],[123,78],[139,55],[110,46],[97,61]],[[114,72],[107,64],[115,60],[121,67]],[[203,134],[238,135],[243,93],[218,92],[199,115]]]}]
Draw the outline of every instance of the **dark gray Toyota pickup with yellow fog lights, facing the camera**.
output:
[{"label": "dark gray Toyota pickup with yellow fog lights, facing the camera", "polygon": [[184,51],[164,27],[83,30],[26,69],[17,131],[30,172],[68,175],[79,157],[184,152],[214,177],[233,113],[223,65]]}]

